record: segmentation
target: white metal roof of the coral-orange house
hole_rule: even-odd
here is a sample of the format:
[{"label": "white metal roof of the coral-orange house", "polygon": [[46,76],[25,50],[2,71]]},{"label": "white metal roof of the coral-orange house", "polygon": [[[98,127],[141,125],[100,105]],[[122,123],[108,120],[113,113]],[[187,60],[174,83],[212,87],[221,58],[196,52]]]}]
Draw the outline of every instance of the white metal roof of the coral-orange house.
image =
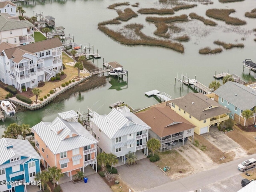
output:
[{"label": "white metal roof of the coral-orange house", "polygon": [[32,127],[53,154],[59,154],[98,141],[78,122],[56,117],[52,123],[40,122]]}]

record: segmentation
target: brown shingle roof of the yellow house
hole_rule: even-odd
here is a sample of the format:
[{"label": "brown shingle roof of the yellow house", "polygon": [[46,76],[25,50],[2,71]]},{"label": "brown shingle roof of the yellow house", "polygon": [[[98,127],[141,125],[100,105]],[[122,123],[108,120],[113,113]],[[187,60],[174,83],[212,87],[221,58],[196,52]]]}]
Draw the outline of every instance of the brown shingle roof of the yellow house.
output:
[{"label": "brown shingle roof of the yellow house", "polygon": [[[170,102],[174,103],[198,120],[204,120],[230,112],[230,110],[224,108],[224,106],[218,104],[202,93],[190,92],[185,96],[173,99]],[[210,106],[212,106],[212,108],[209,108]]]}]

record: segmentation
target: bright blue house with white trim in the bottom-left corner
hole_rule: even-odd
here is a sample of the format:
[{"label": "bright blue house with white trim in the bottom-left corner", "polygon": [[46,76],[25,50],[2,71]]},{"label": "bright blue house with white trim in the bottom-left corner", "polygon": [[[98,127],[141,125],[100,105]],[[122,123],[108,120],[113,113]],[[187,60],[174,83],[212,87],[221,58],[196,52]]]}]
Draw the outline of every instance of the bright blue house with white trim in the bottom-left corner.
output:
[{"label": "bright blue house with white trim in the bottom-left corner", "polygon": [[36,185],[40,159],[28,140],[0,139],[0,192],[26,192],[27,185]]}]

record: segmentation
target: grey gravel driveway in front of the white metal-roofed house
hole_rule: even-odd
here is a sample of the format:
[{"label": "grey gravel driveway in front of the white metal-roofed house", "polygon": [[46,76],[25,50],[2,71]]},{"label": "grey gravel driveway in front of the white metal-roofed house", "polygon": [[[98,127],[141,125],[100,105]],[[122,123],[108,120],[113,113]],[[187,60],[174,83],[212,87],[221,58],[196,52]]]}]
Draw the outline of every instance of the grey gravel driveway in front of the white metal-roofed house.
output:
[{"label": "grey gravel driveway in front of the white metal-roofed house", "polygon": [[148,158],[138,160],[136,165],[130,167],[118,166],[117,170],[120,178],[136,192],[145,191],[171,181]]}]

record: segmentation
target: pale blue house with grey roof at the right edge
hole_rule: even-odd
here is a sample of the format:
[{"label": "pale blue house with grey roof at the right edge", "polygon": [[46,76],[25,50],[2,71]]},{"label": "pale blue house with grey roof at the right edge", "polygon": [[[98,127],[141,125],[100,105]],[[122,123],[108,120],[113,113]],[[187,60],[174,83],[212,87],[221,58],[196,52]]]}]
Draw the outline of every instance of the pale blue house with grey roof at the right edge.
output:
[{"label": "pale blue house with grey roof at the right edge", "polygon": [[228,81],[214,91],[214,100],[231,112],[229,117],[235,122],[245,126],[254,124],[255,113],[245,120],[242,116],[244,110],[253,110],[256,107],[256,90],[248,86]]}]

